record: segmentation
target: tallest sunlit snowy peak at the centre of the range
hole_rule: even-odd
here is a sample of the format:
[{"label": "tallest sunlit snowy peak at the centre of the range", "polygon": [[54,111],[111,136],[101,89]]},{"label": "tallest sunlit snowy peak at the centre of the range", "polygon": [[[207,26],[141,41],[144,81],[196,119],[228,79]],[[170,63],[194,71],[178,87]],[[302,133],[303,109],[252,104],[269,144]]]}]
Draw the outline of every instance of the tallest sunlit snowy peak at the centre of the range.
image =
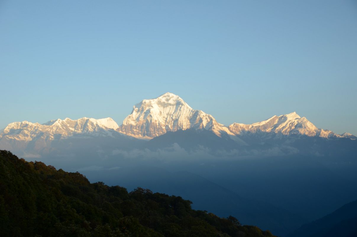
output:
[{"label": "tallest sunlit snowy peak at the centre of the range", "polygon": [[131,114],[117,130],[133,137],[150,139],[168,131],[190,128],[212,130],[218,136],[223,132],[231,134],[211,115],[192,109],[178,95],[169,92],[134,105]]}]

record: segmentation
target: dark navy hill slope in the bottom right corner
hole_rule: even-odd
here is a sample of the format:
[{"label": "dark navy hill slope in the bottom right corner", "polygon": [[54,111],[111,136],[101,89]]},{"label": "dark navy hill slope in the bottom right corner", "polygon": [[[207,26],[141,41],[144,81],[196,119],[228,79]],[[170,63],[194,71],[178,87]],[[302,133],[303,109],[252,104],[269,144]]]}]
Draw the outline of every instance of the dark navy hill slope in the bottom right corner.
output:
[{"label": "dark navy hill slope in the bottom right corner", "polygon": [[357,236],[357,200],[321,219],[305,224],[288,237]]}]

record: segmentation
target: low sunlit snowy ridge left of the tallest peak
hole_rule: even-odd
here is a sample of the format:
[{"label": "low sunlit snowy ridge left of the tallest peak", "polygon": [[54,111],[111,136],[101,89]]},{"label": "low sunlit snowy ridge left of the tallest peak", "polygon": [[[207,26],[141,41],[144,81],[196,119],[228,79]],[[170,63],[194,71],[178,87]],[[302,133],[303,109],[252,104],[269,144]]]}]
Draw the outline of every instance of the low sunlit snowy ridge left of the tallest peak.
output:
[{"label": "low sunlit snowy ridge left of the tallest peak", "polygon": [[83,133],[108,135],[108,130],[114,131],[117,128],[119,128],[118,124],[111,118],[93,119],[84,117],[77,120],[66,118],[64,120],[50,120],[44,124],[23,121],[7,125],[0,137],[27,141],[37,138],[52,140],[55,136],[65,138]]}]

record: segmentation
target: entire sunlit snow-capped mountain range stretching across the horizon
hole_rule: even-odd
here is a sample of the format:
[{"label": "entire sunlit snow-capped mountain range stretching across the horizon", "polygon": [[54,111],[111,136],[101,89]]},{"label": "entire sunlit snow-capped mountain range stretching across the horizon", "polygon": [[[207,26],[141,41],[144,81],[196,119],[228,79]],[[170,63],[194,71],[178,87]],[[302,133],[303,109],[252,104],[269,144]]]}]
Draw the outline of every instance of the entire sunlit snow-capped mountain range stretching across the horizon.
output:
[{"label": "entire sunlit snow-capped mountain range stretching across the horizon", "polygon": [[74,135],[113,136],[127,135],[134,138],[151,139],[166,132],[196,129],[209,130],[218,137],[228,136],[243,144],[240,137],[247,134],[281,134],[306,135],[308,137],[350,138],[356,137],[350,133],[336,134],[330,130],[317,128],[305,117],[295,112],[273,116],[270,119],[253,124],[233,123],[225,126],[216,121],[210,114],[202,110],[192,109],[180,97],[165,93],[155,99],[146,99],[134,105],[121,126],[113,119],[80,118],[72,120],[51,120],[44,124],[27,121],[10,123],[0,131],[0,146],[4,142],[31,140],[65,139]]}]

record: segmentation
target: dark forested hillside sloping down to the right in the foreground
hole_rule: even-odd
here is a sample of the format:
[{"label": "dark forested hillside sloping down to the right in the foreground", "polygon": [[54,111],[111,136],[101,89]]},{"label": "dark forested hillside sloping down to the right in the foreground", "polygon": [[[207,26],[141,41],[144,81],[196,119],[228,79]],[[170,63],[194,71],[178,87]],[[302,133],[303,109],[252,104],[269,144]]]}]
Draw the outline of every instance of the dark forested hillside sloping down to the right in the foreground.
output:
[{"label": "dark forested hillside sloping down to the right in the foreground", "polygon": [[80,173],[0,150],[1,236],[273,236],[181,197],[90,183]]}]

